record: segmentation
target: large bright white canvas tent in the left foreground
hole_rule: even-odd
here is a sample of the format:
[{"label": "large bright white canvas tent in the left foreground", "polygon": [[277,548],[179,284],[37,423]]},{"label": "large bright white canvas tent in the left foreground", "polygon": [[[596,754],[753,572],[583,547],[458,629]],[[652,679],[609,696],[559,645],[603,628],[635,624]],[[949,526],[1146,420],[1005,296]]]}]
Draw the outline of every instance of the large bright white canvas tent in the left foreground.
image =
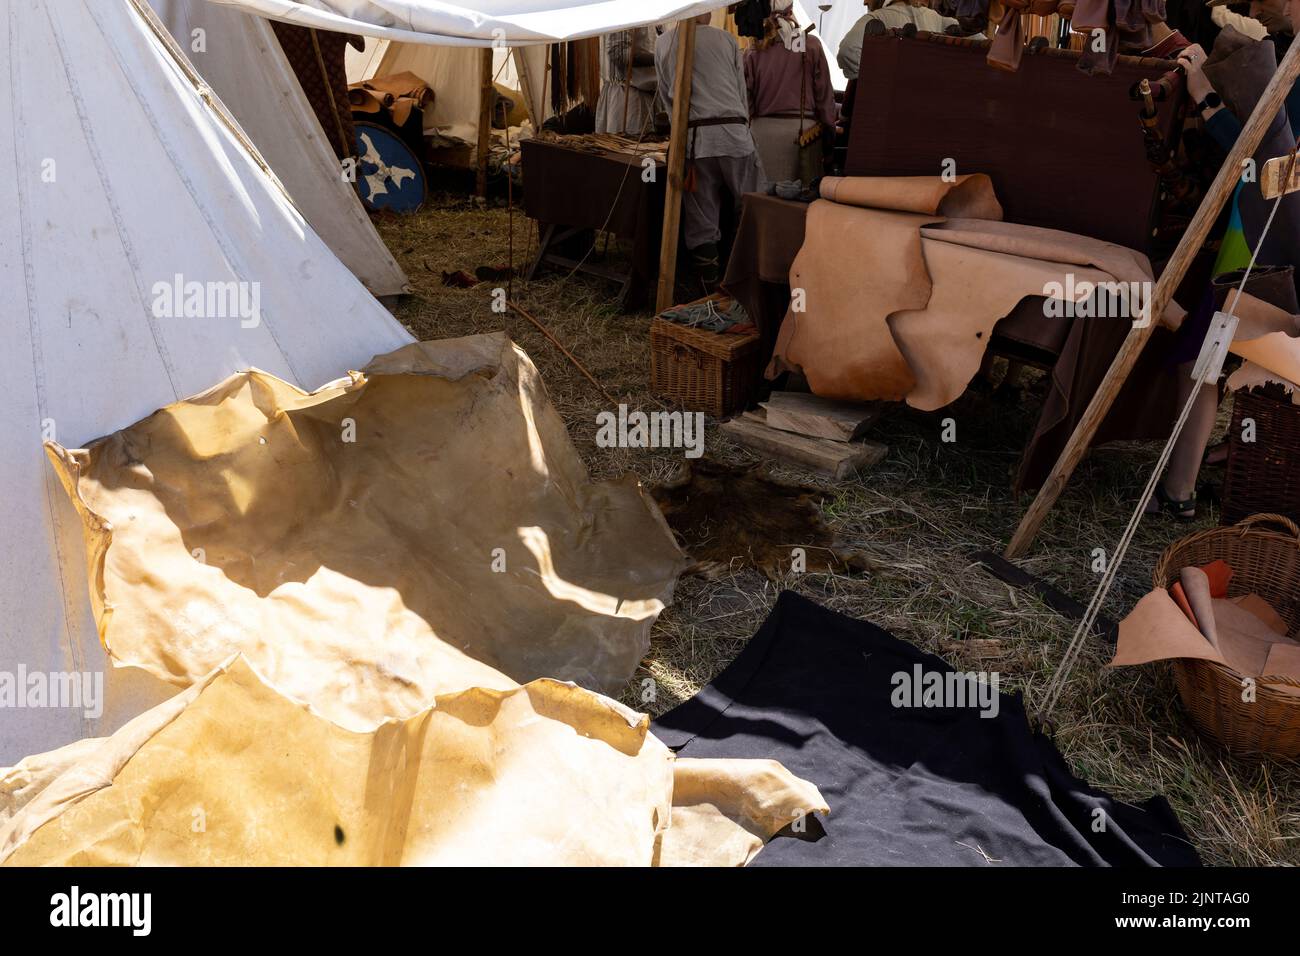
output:
[{"label": "large bright white canvas tent in the left foreground", "polygon": [[[42,440],[84,444],[248,367],[316,388],[411,341],[164,38],[144,0],[0,3],[0,682],[103,672],[107,692],[99,715],[6,701],[0,766],[176,689],[108,666]],[[256,323],[213,298],[168,317],[177,276],[238,289]]]}]

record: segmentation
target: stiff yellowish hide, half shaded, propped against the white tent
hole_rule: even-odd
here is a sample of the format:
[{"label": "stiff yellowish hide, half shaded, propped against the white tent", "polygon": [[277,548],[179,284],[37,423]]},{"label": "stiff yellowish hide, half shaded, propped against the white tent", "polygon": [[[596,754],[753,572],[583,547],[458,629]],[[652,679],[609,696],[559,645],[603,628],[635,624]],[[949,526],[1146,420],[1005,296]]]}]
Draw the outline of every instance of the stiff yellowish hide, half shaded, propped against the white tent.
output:
[{"label": "stiff yellowish hide, half shaded, propped against the white tent", "polygon": [[309,394],[235,375],[47,447],[116,665],[183,687],[242,652],[354,730],[507,678],[618,688],[685,564],[633,476],[590,481],[502,333]]}]

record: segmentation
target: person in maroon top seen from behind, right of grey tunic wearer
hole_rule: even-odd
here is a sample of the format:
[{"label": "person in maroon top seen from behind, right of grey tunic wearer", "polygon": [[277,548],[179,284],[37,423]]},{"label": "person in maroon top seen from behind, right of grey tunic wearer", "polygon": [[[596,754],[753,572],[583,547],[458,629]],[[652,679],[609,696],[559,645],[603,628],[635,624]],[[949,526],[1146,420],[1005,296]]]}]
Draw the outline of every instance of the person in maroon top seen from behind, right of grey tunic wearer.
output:
[{"label": "person in maroon top seen from behind, right of grey tunic wearer", "polygon": [[[793,0],[775,0],[772,16],[763,23],[763,38],[745,53],[750,124],[771,182],[820,176],[823,143],[837,117],[822,40],[800,29],[792,7]],[[819,124],[822,135],[801,148],[801,137]],[[803,151],[807,155],[801,164]]]}]

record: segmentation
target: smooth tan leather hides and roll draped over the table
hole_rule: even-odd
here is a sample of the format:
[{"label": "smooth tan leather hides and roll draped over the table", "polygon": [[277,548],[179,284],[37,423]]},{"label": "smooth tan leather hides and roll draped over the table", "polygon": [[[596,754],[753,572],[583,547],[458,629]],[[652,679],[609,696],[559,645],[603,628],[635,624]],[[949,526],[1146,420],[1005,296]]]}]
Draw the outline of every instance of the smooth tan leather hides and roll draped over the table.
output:
[{"label": "smooth tan leather hides and roll draped over the table", "polygon": [[[790,268],[792,300],[768,376],[800,369],[819,395],[898,401],[922,410],[956,401],[979,369],[993,326],[1048,284],[1149,284],[1145,256],[1113,243],[1000,222],[985,177],[952,191],[937,177],[828,178]],[[846,206],[850,200],[854,206]],[[888,208],[858,208],[887,204]],[[906,212],[901,212],[906,209]],[[932,209],[930,219],[924,211]],[[941,213],[980,219],[941,220]],[[988,219],[983,219],[988,217]],[[871,268],[842,250],[854,248]],[[1149,290],[1149,285],[1145,286]],[[1138,312],[1141,302],[1128,302]],[[1161,316],[1176,325],[1182,310]],[[1097,321],[1128,320],[1098,319]]]}]

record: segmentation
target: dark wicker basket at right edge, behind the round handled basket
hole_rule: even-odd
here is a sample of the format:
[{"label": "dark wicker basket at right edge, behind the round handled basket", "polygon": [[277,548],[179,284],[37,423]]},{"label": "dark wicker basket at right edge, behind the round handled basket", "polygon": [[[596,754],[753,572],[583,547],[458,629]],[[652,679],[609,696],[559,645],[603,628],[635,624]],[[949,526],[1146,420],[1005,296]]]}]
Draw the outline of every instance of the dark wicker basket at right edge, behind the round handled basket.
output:
[{"label": "dark wicker basket at right edge, behind the round handled basket", "polygon": [[[1254,441],[1242,441],[1242,423],[1254,419]],[[1257,512],[1300,522],[1300,406],[1264,389],[1232,397],[1227,473],[1221,524]]]}]

